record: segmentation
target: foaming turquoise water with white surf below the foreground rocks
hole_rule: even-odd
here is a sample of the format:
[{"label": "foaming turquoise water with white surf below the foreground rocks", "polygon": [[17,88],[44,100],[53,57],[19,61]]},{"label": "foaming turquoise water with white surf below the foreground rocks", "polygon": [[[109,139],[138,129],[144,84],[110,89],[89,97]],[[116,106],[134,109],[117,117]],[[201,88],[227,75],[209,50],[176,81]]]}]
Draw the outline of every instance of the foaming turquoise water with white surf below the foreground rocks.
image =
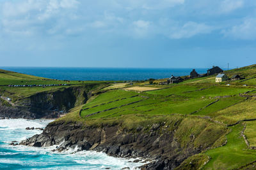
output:
[{"label": "foaming turquoise water with white surf below the foreground rocks", "polygon": [[135,169],[142,165],[93,151],[68,150],[58,153],[51,152],[56,146],[35,148],[8,145],[42,132],[27,131],[26,127],[44,128],[49,122],[51,120],[0,120],[0,169]]}]

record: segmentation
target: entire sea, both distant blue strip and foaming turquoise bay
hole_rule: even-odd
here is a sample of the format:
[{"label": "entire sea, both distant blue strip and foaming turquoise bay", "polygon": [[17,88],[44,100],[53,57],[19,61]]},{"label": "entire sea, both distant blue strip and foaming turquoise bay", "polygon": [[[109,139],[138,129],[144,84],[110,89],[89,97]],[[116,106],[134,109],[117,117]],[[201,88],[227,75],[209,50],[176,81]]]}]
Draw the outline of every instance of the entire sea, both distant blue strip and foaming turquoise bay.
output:
[{"label": "entire sea, both distant blue strip and foaming turquoise bay", "polygon": [[[192,69],[152,69],[152,68],[83,68],[83,67],[0,67],[9,71],[31,74],[58,80],[147,80],[148,78],[168,78],[172,75],[188,75]],[[206,73],[207,69],[196,69]],[[12,146],[12,141],[21,141],[40,134],[39,130],[26,127],[44,128],[53,120],[0,120],[0,169],[136,169],[143,165],[132,159],[109,157],[105,153],[68,150],[52,152],[56,146],[36,148]]]}]

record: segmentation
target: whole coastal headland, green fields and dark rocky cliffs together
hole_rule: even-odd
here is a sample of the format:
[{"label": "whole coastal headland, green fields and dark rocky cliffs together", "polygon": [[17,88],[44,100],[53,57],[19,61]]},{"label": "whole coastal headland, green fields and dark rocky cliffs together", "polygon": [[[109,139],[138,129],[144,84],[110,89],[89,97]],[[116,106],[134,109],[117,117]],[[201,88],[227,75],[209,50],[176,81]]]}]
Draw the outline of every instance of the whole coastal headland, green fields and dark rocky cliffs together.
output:
[{"label": "whole coastal headland, green fields and dark rocky cliffs together", "polygon": [[141,169],[253,169],[256,65],[224,73],[244,79],[184,76],[159,85],[167,80],[64,81],[0,70],[0,117],[58,118],[20,145],[147,160]]}]

